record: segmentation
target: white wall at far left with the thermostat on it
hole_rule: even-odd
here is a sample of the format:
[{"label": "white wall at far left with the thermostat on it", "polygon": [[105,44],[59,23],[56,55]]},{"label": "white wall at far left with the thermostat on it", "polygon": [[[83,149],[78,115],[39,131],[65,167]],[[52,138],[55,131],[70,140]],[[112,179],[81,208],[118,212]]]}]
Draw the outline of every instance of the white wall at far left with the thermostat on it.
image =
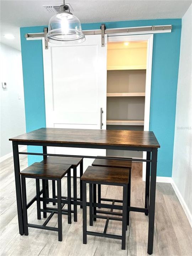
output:
[{"label": "white wall at far left with the thermostat on it", "polygon": [[[25,106],[21,52],[0,44],[0,161],[11,156],[9,138],[25,133]],[[7,83],[7,89],[1,82]],[[18,99],[20,95],[21,99]]]}]

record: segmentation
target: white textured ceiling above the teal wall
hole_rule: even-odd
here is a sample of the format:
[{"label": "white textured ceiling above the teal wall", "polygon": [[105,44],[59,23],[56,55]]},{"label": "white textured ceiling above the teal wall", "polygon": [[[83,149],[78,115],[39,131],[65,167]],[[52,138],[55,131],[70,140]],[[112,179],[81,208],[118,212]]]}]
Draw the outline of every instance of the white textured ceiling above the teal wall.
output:
[{"label": "white textured ceiling above the teal wall", "polygon": [[[47,25],[52,16],[43,7],[62,0],[1,0],[1,42],[20,49],[20,27]],[[192,1],[66,0],[81,23],[182,18]],[[15,39],[3,37],[12,33]]]}]

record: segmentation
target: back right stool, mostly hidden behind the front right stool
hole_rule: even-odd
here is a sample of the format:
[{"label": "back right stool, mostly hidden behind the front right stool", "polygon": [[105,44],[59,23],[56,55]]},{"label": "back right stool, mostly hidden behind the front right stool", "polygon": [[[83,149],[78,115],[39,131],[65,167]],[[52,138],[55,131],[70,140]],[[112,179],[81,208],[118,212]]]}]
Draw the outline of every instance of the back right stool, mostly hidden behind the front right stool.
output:
[{"label": "back right stool, mostly hidden behind the front right stool", "polygon": [[[128,196],[128,201],[127,201],[127,207],[130,207],[132,158],[130,158],[130,161],[128,161],[128,160],[113,160],[113,159],[98,159],[97,158],[93,161],[92,166],[103,166],[103,167],[129,169],[129,184],[128,184],[129,196]],[[101,201],[122,202],[122,200],[101,198],[101,185],[98,184],[98,203],[101,203]],[[97,212],[101,213],[99,210]],[[129,225],[129,210],[128,210],[128,216],[127,216],[127,224]]]}]

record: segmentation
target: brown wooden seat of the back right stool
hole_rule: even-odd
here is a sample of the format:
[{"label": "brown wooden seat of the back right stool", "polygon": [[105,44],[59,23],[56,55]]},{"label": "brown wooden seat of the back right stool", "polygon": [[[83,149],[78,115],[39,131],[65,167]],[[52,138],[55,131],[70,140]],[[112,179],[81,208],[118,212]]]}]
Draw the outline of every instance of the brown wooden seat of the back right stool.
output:
[{"label": "brown wooden seat of the back right stool", "polygon": [[92,165],[130,169],[132,167],[132,158],[130,158],[130,161],[113,159],[95,159]]}]

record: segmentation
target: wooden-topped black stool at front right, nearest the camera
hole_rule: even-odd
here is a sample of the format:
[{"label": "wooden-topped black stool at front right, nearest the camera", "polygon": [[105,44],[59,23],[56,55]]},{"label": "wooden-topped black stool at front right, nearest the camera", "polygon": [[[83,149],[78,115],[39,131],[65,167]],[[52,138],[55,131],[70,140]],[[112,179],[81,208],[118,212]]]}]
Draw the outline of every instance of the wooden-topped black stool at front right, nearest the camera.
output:
[{"label": "wooden-topped black stool at front right, nearest the camera", "polygon": [[[129,169],[125,168],[111,168],[111,167],[98,167],[88,166],[87,170],[81,176],[82,180],[82,205],[83,205],[83,243],[87,243],[87,235],[102,236],[106,238],[114,238],[122,240],[122,249],[125,250],[126,246],[126,228],[127,228],[127,198],[128,198],[128,183],[129,183]],[[106,219],[106,225],[103,233],[87,231],[87,195],[86,184],[89,183],[89,214],[90,214],[90,226],[93,225],[93,218]],[[93,198],[93,186],[99,185],[113,185],[123,186],[123,200],[122,206],[114,204],[96,203],[96,198]],[[102,207],[108,209],[120,209],[122,210],[122,218],[107,217],[103,215],[97,215],[94,208]],[[118,213],[108,212],[112,215],[119,215]],[[121,220],[122,221],[122,235],[107,234],[107,226],[109,220]]]}]

